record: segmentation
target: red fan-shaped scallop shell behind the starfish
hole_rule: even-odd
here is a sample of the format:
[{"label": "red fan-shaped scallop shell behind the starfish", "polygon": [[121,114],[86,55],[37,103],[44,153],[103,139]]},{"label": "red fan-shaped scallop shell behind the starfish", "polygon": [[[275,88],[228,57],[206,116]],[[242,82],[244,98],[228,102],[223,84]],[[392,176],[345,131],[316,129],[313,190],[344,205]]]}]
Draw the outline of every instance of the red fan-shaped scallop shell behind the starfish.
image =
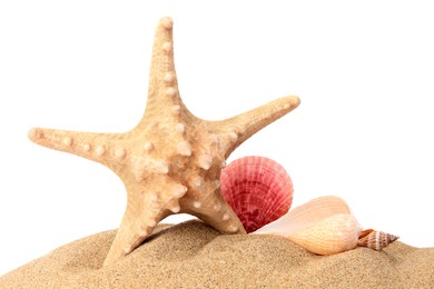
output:
[{"label": "red fan-shaped scallop shell behind the starfish", "polygon": [[247,232],[277,220],[293,202],[293,181],[276,161],[244,157],[230,162],[220,176],[220,189]]}]

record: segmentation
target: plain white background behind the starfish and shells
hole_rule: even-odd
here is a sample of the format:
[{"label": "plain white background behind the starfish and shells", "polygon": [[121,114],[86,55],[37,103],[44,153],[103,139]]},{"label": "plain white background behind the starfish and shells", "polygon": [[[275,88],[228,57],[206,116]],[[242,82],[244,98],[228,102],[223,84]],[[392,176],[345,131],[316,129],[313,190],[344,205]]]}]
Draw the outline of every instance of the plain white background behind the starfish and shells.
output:
[{"label": "plain white background behind the starfish and shells", "polygon": [[293,206],[337,195],[363,227],[434,246],[433,7],[201,2],[0,3],[0,273],[119,225],[117,176],[33,144],[27,131],[134,127],[162,16],[174,18],[179,89],[198,117],[302,99],[229,161],[273,158],[293,178]]}]

